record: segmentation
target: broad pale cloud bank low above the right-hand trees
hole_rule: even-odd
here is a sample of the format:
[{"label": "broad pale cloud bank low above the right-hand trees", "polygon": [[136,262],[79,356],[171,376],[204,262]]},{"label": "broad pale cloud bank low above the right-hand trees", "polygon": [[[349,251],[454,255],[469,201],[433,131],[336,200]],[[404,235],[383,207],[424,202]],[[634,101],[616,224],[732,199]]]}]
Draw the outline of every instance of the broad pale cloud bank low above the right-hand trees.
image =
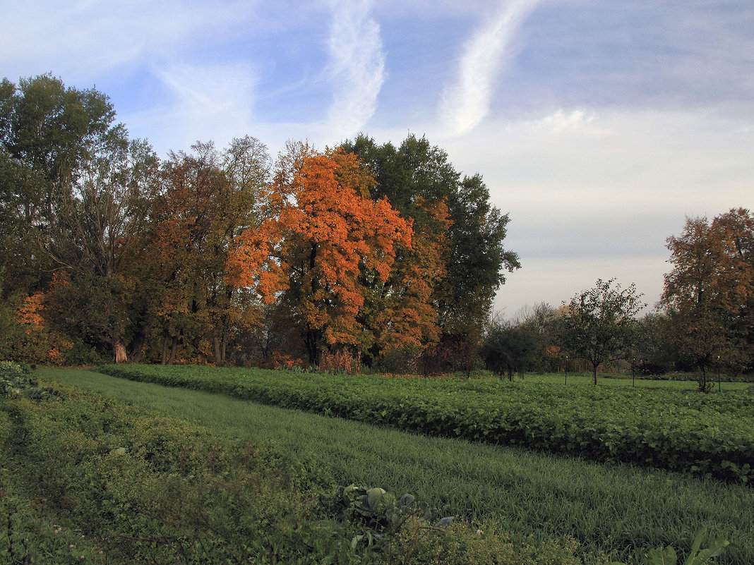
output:
[{"label": "broad pale cloud bank low above the right-hand trees", "polygon": [[505,246],[523,268],[498,293],[508,315],[611,276],[654,304],[669,268],[665,240],[686,215],[754,209],[754,133],[714,113],[564,108],[489,120],[443,148],[459,170],[482,173],[492,202],[510,212]]}]

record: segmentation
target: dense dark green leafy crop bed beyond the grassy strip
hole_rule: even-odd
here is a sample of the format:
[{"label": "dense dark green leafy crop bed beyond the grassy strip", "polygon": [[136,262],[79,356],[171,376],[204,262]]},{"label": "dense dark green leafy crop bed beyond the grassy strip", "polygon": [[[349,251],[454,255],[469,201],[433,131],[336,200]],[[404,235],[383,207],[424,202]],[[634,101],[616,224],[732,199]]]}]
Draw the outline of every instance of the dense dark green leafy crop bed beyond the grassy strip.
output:
[{"label": "dense dark green leafy crop bed beyond the grassy strip", "polygon": [[100,371],[428,435],[754,479],[754,415],[746,395],[204,367]]}]

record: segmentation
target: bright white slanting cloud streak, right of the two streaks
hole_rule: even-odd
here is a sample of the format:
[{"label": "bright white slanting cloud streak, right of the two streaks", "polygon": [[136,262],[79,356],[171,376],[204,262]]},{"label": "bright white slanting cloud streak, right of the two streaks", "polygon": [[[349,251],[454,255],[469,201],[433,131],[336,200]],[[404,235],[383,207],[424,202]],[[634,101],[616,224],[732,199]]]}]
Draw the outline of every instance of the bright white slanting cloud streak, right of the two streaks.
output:
[{"label": "bright white slanting cloud streak, right of the two streaks", "polygon": [[507,0],[464,46],[458,76],[440,100],[440,118],[448,133],[473,129],[489,113],[495,78],[520,24],[539,0]]}]

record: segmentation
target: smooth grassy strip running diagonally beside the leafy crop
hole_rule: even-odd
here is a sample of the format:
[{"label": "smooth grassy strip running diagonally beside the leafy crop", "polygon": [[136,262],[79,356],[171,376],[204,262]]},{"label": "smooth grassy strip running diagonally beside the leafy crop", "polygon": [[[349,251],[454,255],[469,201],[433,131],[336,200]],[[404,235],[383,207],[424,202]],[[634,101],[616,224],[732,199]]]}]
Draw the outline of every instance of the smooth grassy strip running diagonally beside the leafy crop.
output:
[{"label": "smooth grassy strip running diagonally beside the leafy crop", "polygon": [[195,420],[249,441],[314,453],[342,484],[411,492],[467,518],[501,515],[515,533],[573,536],[587,549],[688,548],[706,525],[733,544],[721,563],[754,563],[754,489],[493,445],[377,429],[222,395],[92,371],[41,377]]}]

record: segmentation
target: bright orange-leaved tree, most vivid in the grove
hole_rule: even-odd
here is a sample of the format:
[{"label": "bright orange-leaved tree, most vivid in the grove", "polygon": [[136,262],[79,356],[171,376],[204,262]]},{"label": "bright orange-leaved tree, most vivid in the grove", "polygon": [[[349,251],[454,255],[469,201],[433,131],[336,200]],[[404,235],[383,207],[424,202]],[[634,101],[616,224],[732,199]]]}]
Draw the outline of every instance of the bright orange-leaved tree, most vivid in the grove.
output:
[{"label": "bright orange-leaved tree, most vivid in the grove", "polygon": [[357,319],[364,279],[385,282],[412,228],[388,200],[371,200],[372,175],[339,150],[290,145],[280,157],[268,214],[241,234],[228,273],[268,303],[289,308],[308,359],[323,348],[363,350],[373,336]]}]

